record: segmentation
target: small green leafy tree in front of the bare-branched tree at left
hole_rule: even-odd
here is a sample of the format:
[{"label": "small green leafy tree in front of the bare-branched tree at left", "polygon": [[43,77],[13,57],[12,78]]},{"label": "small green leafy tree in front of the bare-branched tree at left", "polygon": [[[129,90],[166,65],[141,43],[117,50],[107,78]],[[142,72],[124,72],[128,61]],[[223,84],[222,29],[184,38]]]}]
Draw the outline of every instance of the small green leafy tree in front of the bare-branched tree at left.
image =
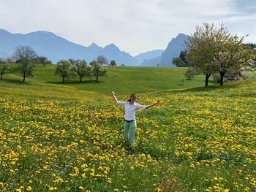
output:
[{"label": "small green leafy tree in front of the bare-branched tree at left", "polygon": [[25,82],[26,77],[34,76],[36,66],[32,64],[30,58],[21,58],[19,63],[20,73],[23,74],[23,82]]}]

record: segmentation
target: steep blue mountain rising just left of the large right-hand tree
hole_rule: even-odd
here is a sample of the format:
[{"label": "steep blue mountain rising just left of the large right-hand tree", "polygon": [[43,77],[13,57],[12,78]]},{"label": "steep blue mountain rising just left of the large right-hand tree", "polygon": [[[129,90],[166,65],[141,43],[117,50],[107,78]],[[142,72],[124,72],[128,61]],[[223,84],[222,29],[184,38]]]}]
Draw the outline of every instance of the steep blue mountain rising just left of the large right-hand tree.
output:
[{"label": "steep blue mountain rising just left of the large right-hand tree", "polygon": [[171,39],[160,57],[144,60],[140,66],[156,66],[157,63],[160,66],[174,66],[172,63],[173,58],[178,57],[181,50],[185,50],[184,42],[187,38],[186,34],[178,34],[177,37]]}]

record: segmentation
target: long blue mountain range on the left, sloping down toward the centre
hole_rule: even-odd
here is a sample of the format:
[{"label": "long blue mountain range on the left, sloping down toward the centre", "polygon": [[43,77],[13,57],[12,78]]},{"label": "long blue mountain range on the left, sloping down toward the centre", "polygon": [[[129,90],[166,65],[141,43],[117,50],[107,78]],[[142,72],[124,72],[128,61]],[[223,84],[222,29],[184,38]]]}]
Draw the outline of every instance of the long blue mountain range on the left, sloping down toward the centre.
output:
[{"label": "long blue mountain range on the left, sloping down toward the centre", "polygon": [[131,55],[121,51],[116,45],[110,44],[102,48],[92,43],[89,47],[69,42],[67,39],[48,31],[36,31],[29,34],[12,34],[0,29],[0,57],[7,58],[15,52],[15,47],[29,46],[38,55],[42,55],[56,63],[61,59],[84,58],[87,62],[104,55],[105,58],[116,60],[118,65],[138,65],[138,61]]}]

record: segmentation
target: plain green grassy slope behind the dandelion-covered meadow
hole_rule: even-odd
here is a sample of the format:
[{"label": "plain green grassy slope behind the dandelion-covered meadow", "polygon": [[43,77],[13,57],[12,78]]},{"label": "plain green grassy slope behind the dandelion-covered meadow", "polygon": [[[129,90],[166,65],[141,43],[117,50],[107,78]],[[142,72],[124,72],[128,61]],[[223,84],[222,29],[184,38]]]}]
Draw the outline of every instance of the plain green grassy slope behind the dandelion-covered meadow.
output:
[{"label": "plain green grassy slope behind the dandelion-covered meadow", "polygon": [[[108,77],[99,77],[99,82],[95,81],[95,77],[87,77],[83,82],[79,82],[78,77],[73,80],[67,80],[64,84],[61,77],[54,75],[55,66],[42,65],[37,66],[36,75],[27,78],[27,82],[38,80],[52,85],[66,85],[71,88],[78,88],[83,91],[91,91],[108,95],[112,89],[115,89],[118,95],[130,93],[147,93],[151,91],[165,91],[169,89],[195,88],[204,85],[204,77],[197,76],[193,80],[186,80],[184,74],[185,68],[156,68],[156,67],[132,67],[132,66],[116,66],[108,67]],[[12,66],[12,72],[18,74],[17,66]],[[18,82],[13,77],[5,77],[12,79],[9,81]],[[181,82],[184,80],[184,83]],[[182,85],[184,84],[184,85]],[[210,82],[211,85],[211,82]]]}]

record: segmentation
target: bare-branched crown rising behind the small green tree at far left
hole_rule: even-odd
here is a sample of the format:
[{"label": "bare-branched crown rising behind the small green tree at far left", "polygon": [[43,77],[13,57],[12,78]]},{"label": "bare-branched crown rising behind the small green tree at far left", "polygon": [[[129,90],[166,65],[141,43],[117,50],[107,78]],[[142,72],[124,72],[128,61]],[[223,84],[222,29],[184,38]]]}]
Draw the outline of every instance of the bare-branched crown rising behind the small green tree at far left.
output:
[{"label": "bare-branched crown rising behind the small green tree at far left", "polygon": [[12,57],[15,61],[20,61],[23,58],[36,58],[37,53],[29,46],[20,46],[16,47],[15,53],[13,53]]}]

